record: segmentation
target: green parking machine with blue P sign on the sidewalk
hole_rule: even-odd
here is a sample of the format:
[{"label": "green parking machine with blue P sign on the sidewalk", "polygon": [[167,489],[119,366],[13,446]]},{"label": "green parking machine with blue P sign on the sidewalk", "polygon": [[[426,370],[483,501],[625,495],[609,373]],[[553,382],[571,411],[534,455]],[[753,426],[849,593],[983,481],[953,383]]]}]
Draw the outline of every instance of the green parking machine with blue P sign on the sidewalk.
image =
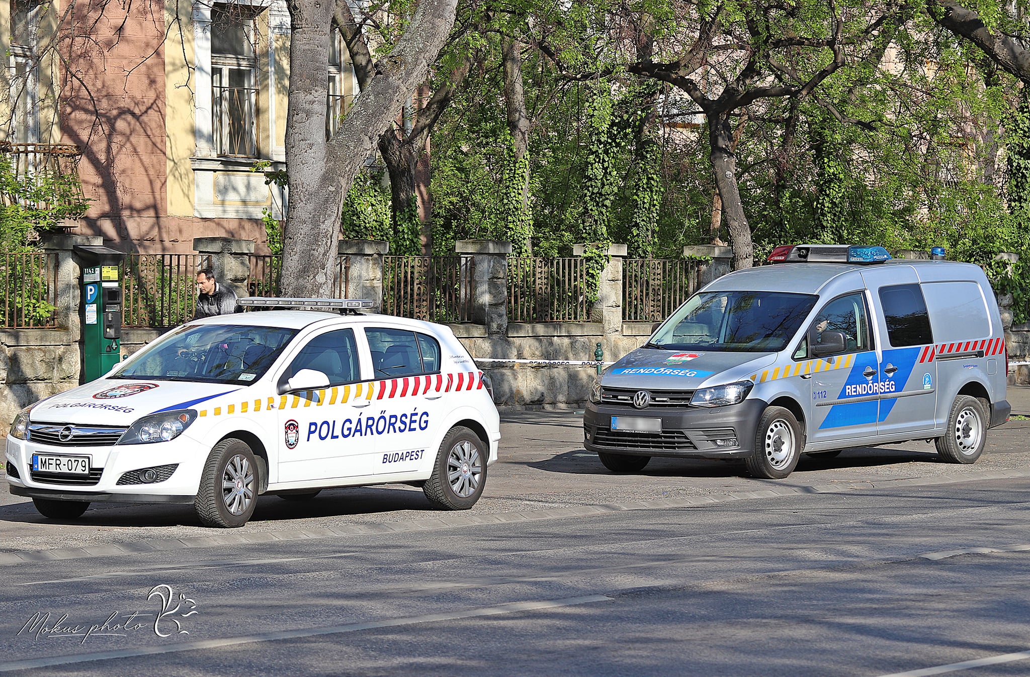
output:
[{"label": "green parking machine with blue P sign on the sidewalk", "polygon": [[76,245],[82,258],[82,381],[107,373],[122,360],[124,253],[100,245]]}]

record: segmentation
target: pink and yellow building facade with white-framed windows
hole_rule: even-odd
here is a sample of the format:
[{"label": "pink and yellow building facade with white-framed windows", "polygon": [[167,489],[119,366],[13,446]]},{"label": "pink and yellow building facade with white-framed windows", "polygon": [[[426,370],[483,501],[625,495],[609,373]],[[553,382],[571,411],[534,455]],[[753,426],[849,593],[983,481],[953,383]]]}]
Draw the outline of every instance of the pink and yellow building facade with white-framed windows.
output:
[{"label": "pink and yellow building facade with white-framed windows", "polygon": [[[0,0],[0,142],[27,171],[77,147],[91,202],[73,233],[140,253],[212,236],[262,249],[262,217],[285,199],[254,171],[285,169],[283,0]],[[357,87],[329,27],[327,40],[329,134]]]}]

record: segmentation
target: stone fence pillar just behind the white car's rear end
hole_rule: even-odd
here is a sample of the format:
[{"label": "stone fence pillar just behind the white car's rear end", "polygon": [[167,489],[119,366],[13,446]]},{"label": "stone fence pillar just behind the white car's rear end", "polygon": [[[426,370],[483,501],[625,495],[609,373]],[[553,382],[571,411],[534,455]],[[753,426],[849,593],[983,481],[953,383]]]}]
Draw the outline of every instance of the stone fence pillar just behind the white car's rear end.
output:
[{"label": "stone fence pillar just behind the white car's rear end", "polygon": [[[488,335],[508,332],[508,254],[512,243],[501,240],[458,240],[454,251],[472,256],[472,319]],[[462,266],[462,282],[467,277]],[[461,288],[467,288],[465,284]]]}]

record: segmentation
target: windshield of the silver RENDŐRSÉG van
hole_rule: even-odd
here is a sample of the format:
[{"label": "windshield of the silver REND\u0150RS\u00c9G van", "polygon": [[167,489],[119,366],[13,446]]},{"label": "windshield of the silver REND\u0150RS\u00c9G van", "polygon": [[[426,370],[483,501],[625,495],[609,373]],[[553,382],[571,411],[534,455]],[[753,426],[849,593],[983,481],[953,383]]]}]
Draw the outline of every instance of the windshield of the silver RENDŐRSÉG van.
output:
[{"label": "windshield of the silver REND\u0150RS\u00c9G van", "polygon": [[645,348],[768,353],[784,349],[818,297],[782,291],[706,291],[662,324]]}]

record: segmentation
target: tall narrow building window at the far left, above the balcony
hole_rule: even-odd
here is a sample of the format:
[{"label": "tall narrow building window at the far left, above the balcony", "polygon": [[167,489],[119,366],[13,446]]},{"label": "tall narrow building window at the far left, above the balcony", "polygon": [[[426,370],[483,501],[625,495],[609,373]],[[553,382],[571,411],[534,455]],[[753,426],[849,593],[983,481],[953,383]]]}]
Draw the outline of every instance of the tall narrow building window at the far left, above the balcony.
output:
[{"label": "tall narrow building window at the far left, above the balcony", "polygon": [[11,2],[10,100],[13,102],[12,143],[39,143],[39,15],[41,5],[31,0]]}]

